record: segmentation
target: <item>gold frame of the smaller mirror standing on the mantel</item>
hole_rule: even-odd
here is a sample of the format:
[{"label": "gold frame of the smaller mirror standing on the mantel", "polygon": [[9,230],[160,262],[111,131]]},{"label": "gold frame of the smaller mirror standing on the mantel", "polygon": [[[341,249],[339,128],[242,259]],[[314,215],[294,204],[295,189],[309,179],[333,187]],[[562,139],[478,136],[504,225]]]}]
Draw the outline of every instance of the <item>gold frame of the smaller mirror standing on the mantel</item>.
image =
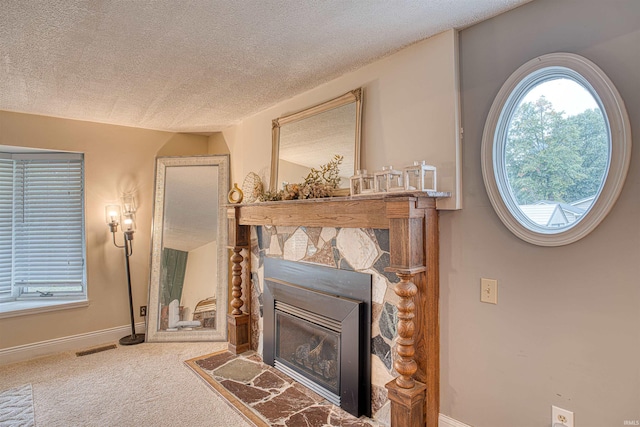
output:
[{"label": "gold frame of the smaller mirror standing on the mantel", "polygon": [[[275,192],[279,190],[278,187],[278,162],[280,160],[280,129],[282,126],[285,126],[290,123],[300,122],[307,118],[316,116],[318,114],[327,112],[329,110],[333,110],[338,107],[342,107],[348,104],[355,104],[355,134],[353,140],[353,150],[354,150],[354,164],[353,170],[348,171],[350,175],[354,175],[356,170],[360,169],[360,145],[361,145],[361,133],[362,133],[362,88],[357,88],[352,91],[345,93],[337,98],[331,99],[329,101],[323,102],[322,104],[318,104],[314,107],[307,108],[305,110],[299,111],[297,113],[289,114],[286,116],[279,117],[272,121],[271,126],[271,138],[272,138],[272,152],[271,152],[271,179],[270,179],[270,190]],[[326,159],[324,162],[318,163],[316,167],[319,167],[321,164],[327,163],[331,160],[331,158]],[[342,164],[341,168],[344,168],[345,165]],[[340,189],[334,191],[334,195],[336,196],[345,196],[349,195],[349,182],[341,182]]]}]

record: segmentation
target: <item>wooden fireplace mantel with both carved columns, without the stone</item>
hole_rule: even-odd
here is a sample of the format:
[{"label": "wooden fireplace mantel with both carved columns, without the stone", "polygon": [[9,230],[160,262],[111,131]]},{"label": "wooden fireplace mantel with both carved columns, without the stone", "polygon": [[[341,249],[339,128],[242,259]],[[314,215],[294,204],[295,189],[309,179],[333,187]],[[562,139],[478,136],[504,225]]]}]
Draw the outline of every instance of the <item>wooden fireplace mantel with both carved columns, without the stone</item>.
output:
[{"label": "wooden fireplace mantel with both carved columns, without the stone", "polygon": [[[443,192],[399,192],[354,197],[287,200],[227,206],[228,245],[233,251],[232,312],[227,316],[229,349],[250,348],[250,316],[242,310],[243,251],[250,226],[376,228],[389,230],[389,266],[398,295],[399,376],[386,384],[391,426],[437,427],[440,397],[438,322],[438,212]],[[250,259],[247,260],[250,262]],[[245,264],[245,268],[249,266]],[[250,283],[246,283],[251,292]]]}]

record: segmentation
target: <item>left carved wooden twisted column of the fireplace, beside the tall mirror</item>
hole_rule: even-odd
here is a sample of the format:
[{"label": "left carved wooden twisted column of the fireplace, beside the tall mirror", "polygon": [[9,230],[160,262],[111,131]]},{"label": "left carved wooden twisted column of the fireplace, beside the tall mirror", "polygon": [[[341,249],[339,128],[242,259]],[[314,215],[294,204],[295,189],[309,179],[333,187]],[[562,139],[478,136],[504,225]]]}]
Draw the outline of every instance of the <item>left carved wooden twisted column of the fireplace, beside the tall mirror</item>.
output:
[{"label": "left carved wooden twisted column of the fireplace, beside the tall mirror", "polygon": [[227,314],[227,325],[229,328],[229,351],[235,354],[249,350],[251,343],[250,317],[248,313],[242,311],[244,301],[242,300],[242,261],[240,254],[243,249],[250,245],[250,226],[240,225],[238,222],[239,207],[227,209],[227,224],[229,226],[229,247],[233,251],[231,255],[231,313]]}]

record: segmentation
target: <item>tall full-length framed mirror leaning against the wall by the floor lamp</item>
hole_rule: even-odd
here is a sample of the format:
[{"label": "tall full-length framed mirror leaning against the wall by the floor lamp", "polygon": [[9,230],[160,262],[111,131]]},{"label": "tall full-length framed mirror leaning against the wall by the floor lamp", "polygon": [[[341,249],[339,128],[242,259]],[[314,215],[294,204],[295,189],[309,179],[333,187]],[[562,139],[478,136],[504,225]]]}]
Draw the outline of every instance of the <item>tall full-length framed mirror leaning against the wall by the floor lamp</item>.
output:
[{"label": "tall full-length framed mirror leaning against the wall by the floor lamp", "polygon": [[147,341],[226,339],[227,155],[159,157]]}]

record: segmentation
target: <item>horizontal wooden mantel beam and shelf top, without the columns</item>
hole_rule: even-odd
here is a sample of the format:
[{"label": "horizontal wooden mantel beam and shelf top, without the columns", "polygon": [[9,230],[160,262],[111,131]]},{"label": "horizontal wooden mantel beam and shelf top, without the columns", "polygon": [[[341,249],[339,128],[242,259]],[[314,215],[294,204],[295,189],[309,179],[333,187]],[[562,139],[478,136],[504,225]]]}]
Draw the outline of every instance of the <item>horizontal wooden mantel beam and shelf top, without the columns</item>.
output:
[{"label": "horizontal wooden mantel beam and shelf top, without the columns", "polygon": [[[356,197],[261,202],[238,207],[240,225],[281,225],[343,228],[389,228],[388,202],[415,199],[415,207],[435,207],[435,199],[450,197],[444,192],[402,192]],[[427,206],[429,205],[429,206]],[[411,204],[406,204],[407,209]]]}]

